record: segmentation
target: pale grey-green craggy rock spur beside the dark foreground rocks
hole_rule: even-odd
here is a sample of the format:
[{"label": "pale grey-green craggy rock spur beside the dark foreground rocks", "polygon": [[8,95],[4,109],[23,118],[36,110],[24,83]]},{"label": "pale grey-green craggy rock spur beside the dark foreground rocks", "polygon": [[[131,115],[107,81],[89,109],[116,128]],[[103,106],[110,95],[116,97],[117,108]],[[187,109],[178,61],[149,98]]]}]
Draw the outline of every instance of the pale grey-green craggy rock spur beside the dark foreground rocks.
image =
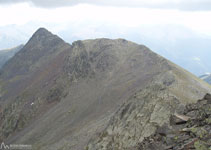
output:
[{"label": "pale grey-green craggy rock spur beside the dark foreground rocks", "polygon": [[122,105],[106,130],[90,142],[88,149],[135,149],[157,126],[167,123],[174,110],[176,101],[163,90],[157,85],[137,92]]}]

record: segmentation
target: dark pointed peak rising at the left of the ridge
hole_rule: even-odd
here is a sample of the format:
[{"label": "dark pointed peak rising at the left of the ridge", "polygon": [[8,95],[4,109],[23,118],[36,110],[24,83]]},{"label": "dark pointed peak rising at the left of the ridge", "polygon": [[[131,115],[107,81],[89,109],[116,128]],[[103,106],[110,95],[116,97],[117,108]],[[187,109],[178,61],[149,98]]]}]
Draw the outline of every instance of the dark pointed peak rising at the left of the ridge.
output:
[{"label": "dark pointed peak rising at the left of the ridge", "polygon": [[4,66],[6,72],[14,77],[30,72],[30,68],[39,62],[45,62],[46,57],[50,57],[56,52],[61,52],[64,48],[69,48],[60,37],[52,34],[45,28],[39,28],[25,44],[25,46]]}]

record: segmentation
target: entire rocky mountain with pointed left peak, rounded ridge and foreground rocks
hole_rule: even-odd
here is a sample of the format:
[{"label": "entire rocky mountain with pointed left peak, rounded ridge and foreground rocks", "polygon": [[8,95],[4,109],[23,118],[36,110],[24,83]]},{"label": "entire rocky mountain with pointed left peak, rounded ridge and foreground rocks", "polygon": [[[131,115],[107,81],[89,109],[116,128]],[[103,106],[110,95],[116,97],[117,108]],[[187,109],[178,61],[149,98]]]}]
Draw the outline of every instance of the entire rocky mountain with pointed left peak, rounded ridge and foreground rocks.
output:
[{"label": "entire rocky mountain with pointed left peak, rounded ridge and foreground rocks", "polygon": [[208,148],[203,97],[210,92],[144,45],[106,38],[68,44],[40,28],[1,69],[0,142],[33,150]]}]

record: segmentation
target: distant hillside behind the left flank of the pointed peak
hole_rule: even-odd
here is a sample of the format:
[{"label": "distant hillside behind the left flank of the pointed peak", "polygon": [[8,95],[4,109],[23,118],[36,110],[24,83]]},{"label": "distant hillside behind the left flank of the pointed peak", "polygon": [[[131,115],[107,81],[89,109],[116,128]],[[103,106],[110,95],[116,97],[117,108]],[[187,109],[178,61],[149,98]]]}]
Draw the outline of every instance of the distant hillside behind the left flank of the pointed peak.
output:
[{"label": "distant hillside behind the left flank of the pointed peak", "polygon": [[19,45],[11,49],[0,50],[0,68],[12,58],[24,45]]}]

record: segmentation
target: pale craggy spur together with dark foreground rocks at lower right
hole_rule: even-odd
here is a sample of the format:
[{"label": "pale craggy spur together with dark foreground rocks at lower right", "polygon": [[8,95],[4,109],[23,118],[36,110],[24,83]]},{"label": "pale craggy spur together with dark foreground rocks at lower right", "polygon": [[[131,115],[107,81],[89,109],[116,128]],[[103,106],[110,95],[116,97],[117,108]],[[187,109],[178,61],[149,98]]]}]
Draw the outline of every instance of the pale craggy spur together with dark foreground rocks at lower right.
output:
[{"label": "pale craggy spur together with dark foreground rocks at lower right", "polygon": [[87,149],[209,150],[211,95],[184,106],[165,90],[154,85],[136,93]]}]

